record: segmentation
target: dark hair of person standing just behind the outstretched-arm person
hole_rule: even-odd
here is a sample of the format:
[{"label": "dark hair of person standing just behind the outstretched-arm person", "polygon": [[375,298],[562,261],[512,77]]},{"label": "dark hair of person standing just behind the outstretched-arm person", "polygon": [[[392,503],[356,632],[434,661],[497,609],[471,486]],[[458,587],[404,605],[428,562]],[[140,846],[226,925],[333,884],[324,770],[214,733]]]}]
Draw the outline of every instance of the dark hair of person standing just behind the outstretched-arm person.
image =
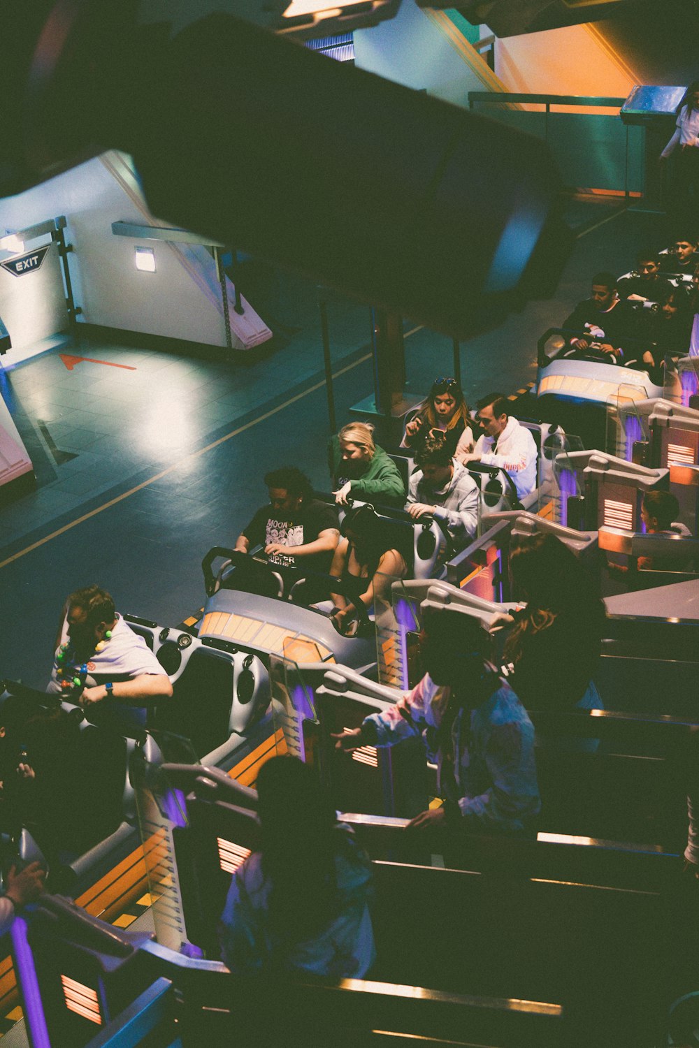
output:
[{"label": "dark hair of person standing just behind the outstretched-arm person", "polygon": [[512,590],[527,602],[505,642],[505,660],[515,662],[527,635],[552,626],[562,612],[573,613],[581,623],[604,620],[605,606],[582,562],[550,531],[522,536],[510,553]]}]

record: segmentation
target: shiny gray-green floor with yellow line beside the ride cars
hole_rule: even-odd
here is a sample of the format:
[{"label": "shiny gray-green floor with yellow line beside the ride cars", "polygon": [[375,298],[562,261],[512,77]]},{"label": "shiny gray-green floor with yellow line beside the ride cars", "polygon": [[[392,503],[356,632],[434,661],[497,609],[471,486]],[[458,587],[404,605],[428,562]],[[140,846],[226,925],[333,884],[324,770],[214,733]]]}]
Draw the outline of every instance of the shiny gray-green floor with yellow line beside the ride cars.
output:
[{"label": "shiny gray-green floor with yellow line beside the ride cars", "polygon": [[[461,344],[471,402],[533,379],[539,334],[587,297],[591,275],[624,272],[641,243],[667,239],[657,216],[604,201],[572,214],[586,224],[555,297]],[[298,464],[327,489],[316,288],[268,268],[253,277],[250,298],[278,332],[255,363],[144,349],[134,335],[132,346],[58,346],[0,372],[38,477],[35,492],[0,509],[0,676],[45,685],[60,609],[80,586],[99,582],[119,610],[163,625],[199,608],[201,559],[232,545],[265,501],[267,470]],[[369,310],[333,296],[329,322],[342,425],[373,388]],[[407,388],[423,394],[452,374],[452,341],[405,327]],[[91,359],[68,370],[62,351]]]}]

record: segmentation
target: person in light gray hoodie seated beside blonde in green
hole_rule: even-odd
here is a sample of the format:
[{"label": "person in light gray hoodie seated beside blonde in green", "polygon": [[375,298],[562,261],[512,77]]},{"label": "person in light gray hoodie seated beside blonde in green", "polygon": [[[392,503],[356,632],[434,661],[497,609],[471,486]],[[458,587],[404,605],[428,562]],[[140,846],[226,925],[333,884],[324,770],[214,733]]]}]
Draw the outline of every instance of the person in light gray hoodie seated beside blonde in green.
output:
[{"label": "person in light gray hoodie seated beside blonde in green", "polygon": [[444,440],[428,437],[415,456],[406,509],[416,520],[441,522],[455,551],[464,549],[478,527],[479,488],[465,466],[452,458]]}]

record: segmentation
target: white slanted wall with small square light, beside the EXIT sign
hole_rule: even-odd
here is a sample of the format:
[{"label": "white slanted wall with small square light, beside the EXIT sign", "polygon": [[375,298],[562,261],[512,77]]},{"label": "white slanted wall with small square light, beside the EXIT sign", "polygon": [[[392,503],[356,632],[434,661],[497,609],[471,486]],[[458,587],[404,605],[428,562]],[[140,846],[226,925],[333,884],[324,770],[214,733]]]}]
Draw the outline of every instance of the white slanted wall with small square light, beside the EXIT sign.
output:
[{"label": "white slanted wall with small square light, beside the EXIT sign", "polygon": [[[4,230],[21,230],[58,215],[66,216],[66,241],[74,248],[69,265],[75,304],[83,309],[82,320],[127,331],[225,345],[220,292],[212,288],[211,281],[197,279],[185,253],[165,241],[132,240],[112,233],[115,221],[156,224],[127,157],[107,153],[42,185],[0,200],[0,235]],[[154,248],[156,272],[136,269],[137,244]],[[16,283],[21,285],[29,279],[20,278]],[[245,314],[245,331],[241,340],[236,340],[239,349],[271,334],[249,307]],[[232,312],[232,323],[235,319]]]}]

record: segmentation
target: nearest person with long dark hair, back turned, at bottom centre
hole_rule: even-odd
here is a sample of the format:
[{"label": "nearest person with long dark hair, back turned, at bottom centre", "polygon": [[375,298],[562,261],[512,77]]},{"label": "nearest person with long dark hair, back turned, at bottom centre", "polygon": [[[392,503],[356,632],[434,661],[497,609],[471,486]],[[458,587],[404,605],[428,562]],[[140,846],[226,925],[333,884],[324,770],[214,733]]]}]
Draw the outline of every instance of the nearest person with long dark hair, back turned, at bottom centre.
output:
[{"label": "nearest person with long dark hair, back turned, at bottom centre", "polygon": [[263,764],[257,790],[261,848],[233,876],[223,961],[237,973],[361,979],[374,959],[369,858],[296,757]]}]

